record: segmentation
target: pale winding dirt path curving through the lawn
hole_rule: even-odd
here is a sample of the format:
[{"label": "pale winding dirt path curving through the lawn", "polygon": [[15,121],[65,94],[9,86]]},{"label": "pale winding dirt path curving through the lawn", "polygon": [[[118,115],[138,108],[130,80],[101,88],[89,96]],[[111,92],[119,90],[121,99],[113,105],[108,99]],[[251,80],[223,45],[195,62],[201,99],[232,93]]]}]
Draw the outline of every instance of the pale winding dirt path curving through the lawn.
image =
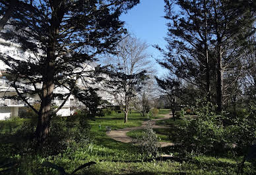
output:
[{"label": "pale winding dirt path curving through the lawn", "polygon": [[[153,128],[168,128],[166,126],[156,126],[156,121],[158,120],[166,120],[168,118],[171,118],[172,116],[170,114],[162,114],[164,118],[158,118],[158,119],[152,119],[152,125]],[[112,130],[111,132],[106,132],[106,135],[109,137],[112,137],[112,139],[115,139],[116,141],[121,141],[123,143],[131,143],[133,141],[133,138],[126,136],[127,132],[133,131],[133,130],[142,130],[146,127],[146,121],[143,122],[141,126],[135,126],[131,128],[123,128],[119,130]],[[174,145],[174,143],[169,142],[160,142],[161,147],[166,147],[170,145]]]}]

